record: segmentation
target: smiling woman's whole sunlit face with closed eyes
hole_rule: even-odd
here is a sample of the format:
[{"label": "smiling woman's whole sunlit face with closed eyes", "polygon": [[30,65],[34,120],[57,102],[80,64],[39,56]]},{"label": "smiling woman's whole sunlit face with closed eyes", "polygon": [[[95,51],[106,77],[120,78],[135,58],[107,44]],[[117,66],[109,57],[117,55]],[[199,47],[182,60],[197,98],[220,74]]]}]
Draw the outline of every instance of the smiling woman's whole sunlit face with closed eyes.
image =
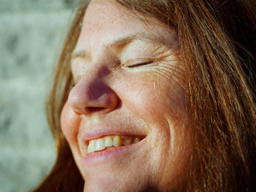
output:
[{"label": "smiling woman's whole sunlit face with closed eyes", "polygon": [[190,129],[176,31],[92,1],[72,74],[61,128],[85,191],[165,191],[184,181]]}]

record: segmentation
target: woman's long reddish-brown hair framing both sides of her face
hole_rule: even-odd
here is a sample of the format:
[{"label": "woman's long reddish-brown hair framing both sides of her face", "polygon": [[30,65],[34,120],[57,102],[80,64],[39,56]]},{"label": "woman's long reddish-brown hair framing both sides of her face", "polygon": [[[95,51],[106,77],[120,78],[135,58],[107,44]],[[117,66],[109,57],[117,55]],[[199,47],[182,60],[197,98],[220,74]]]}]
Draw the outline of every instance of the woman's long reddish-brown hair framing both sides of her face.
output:
[{"label": "woman's long reddish-brown hair framing both sides of her face", "polygon": [[[256,172],[256,15],[248,1],[116,0],[175,28],[187,80],[192,155],[182,191],[253,191]],[[47,104],[58,157],[35,191],[83,191],[83,179],[60,128],[72,86],[69,61],[87,7],[72,23]]]}]

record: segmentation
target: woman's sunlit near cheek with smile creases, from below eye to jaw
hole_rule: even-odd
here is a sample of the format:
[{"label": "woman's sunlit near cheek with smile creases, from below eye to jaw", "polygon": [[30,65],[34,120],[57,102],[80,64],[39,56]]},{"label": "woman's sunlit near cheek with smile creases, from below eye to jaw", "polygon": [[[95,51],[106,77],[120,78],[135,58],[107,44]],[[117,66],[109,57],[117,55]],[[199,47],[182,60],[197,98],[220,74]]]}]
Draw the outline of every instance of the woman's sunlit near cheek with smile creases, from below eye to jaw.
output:
[{"label": "woman's sunlit near cheek with smile creases, from below eye to jaw", "polygon": [[[165,77],[130,78],[122,82],[122,98],[129,111],[147,124],[150,136],[150,160],[156,177],[165,182],[180,179],[189,156],[186,91]],[[159,165],[159,166],[157,166]],[[166,165],[166,166],[163,166]]]}]

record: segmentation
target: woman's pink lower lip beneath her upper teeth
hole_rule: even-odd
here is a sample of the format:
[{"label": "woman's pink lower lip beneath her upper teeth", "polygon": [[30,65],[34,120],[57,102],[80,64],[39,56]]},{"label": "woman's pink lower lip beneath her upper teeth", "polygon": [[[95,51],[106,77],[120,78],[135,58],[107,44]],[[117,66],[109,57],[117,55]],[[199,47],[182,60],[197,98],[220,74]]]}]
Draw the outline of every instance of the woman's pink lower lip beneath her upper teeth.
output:
[{"label": "woman's pink lower lip beneath her upper teeth", "polygon": [[[146,139],[144,138],[143,140],[146,140]],[[117,157],[118,155],[128,152],[128,150],[132,150],[134,147],[139,147],[139,145],[143,143],[143,140],[133,145],[127,145],[127,146],[115,147],[115,148],[113,147],[108,150],[103,150],[101,152],[92,153],[91,155],[86,155],[83,158],[83,163],[89,164],[89,163],[105,161],[109,158]]]}]

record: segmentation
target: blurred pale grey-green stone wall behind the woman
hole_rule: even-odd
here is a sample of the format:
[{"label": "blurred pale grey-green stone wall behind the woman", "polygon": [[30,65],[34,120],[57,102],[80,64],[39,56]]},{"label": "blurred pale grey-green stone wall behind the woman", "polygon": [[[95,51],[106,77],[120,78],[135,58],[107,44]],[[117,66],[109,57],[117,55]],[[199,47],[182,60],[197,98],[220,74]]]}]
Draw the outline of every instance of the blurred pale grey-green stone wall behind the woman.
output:
[{"label": "blurred pale grey-green stone wall behind the woman", "polygon": [[29,191],[53,166],[45,117],[72,0],[0,0],[0,191]]}]

